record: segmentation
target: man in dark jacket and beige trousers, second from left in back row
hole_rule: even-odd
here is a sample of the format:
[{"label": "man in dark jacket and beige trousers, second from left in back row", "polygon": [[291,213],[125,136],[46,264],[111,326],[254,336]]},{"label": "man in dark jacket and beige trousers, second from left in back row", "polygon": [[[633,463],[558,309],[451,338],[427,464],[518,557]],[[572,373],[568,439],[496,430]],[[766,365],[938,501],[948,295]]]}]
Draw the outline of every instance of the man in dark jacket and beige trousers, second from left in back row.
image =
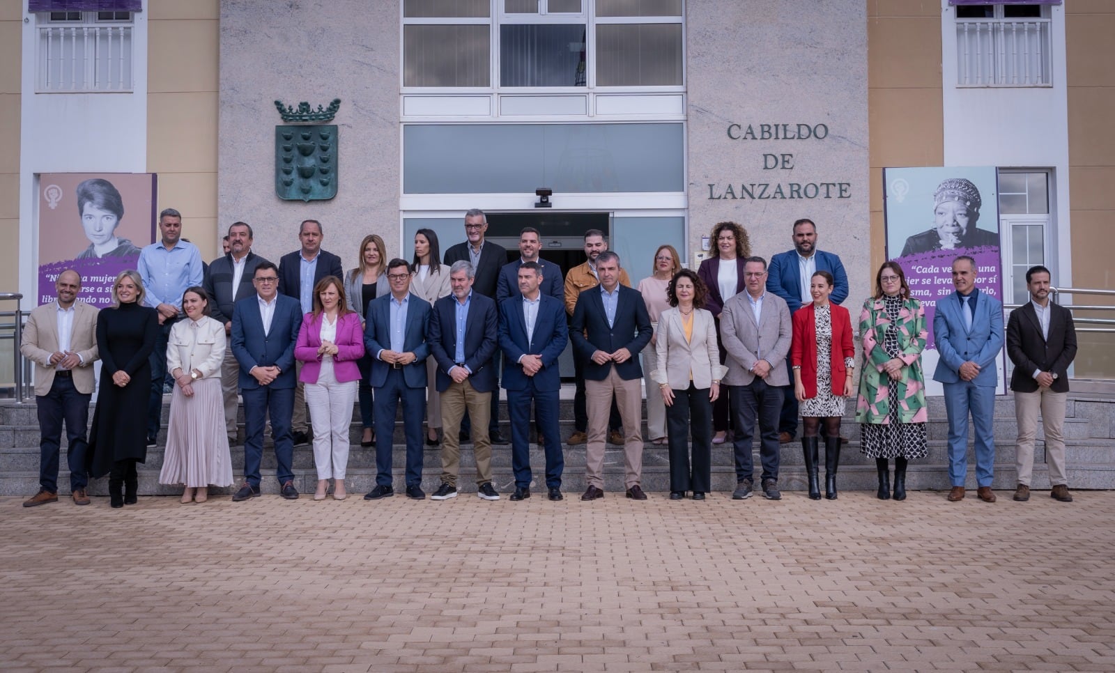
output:
[{"label": "man in dark jacket and beige trousers, second from left in back row", "polygon": [[252,279],[255,266],[266,262],[252,252],[252,227],[246,222],[236,222],[229,227],[225,236],[229,252],[213,260],[205,272],[205,292],[210,295],[210,318],[224,323],[227,342],[224,360],[221,362],[221,391],[224,394],[224,429],[229,443],[236,443],[236,392],[240,381],[240,364],[232,354],[232,309],[236,300],[255,294]]}]

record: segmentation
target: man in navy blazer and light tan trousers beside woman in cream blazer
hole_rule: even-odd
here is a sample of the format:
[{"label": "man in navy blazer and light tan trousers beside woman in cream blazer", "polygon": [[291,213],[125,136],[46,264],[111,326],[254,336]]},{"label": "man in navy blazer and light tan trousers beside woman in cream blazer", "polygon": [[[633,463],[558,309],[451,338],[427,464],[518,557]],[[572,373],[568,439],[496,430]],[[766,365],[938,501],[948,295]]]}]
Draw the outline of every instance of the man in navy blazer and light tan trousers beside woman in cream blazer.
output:
[{"label": "man in navy blazer and light tan trousers beside woman in cream blazer", "polygon": [[576,357],[584,361],[589,441],[582,500],[604,497],[604,438],[615,396],[623,421],[627,497],[646,500],[642,476],[642,368],[639,352],[650,342],[652,329],[647,304],[638,290],[620,284],[620,256],[602,252],[597,257],[600,286],[578,296],[569,326]]}]

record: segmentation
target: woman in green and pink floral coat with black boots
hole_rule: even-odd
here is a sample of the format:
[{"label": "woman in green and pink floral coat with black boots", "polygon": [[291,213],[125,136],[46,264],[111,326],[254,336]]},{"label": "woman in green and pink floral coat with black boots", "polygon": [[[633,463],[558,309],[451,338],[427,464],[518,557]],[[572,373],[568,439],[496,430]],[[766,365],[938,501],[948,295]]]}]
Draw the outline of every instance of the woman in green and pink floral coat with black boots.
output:
[{"label": "woman in green and pink floral coat with black boots", "polygon": [[875,296],[863,302],[863,373],[855,420],[861,423],[861,449],[875,459],[879,499],[890,494],[890,466],[894,459],[894,499],[905,499],[906,461],[924,458],[925,377],[921,351],[925,349],[925,312],[910,296],[905,274],[896,262],[884,262],[875,274]]}]

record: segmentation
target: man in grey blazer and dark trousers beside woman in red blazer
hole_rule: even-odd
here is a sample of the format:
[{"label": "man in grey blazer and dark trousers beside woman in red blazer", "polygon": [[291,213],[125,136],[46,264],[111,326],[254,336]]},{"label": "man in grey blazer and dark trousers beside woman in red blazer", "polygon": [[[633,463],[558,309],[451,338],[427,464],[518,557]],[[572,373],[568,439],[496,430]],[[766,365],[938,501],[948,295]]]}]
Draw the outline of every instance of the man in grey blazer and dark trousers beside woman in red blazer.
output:
[{"label": "man in grey blazer and dark trousers beside woman in red blazer", "polygon": [[[782,499],[778,491],[778,416],[782,412],[789,372],[791,321],[786,300],[766,291],[766,260],[747,257],[744,264],[746,292],[724,302],[720,339],[728,352],[724,382],[731,389],[735,418],[736,490],[734,500],[752,497],[754,460],[752,439],[759,425],[759,459],[763,462],[763,496]],[[811,479],[816,479],[816,442],[813,445]],[[808,451],[806,451],[808,453]],[[806,455],[806,466],[809,456]]]}]

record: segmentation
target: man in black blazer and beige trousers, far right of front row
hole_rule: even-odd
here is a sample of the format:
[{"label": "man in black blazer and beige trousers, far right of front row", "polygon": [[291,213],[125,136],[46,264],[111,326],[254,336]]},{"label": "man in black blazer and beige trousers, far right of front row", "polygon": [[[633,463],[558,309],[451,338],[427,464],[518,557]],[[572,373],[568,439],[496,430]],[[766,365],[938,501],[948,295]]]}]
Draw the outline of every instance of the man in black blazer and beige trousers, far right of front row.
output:
[{"label": "man in black blazer and beige trousers, far right of front row", "polygon": [[1072,503],[1065,474],[1065,401],[1068,398],[1068,365],[1076,358],[1076,328],[1073,313],[1049,301],[1049,270],[1031,266],[1026,272],[1030,301],[1010,312],[1007,321],[1007,354],[1015,363],[1010,390],[1015,392],[1018,440],[1015,462],[1018,488],[1015,499],[1030,499],[1034,471],[1034,438],[1038,413],[1045,425],[1046,462],[1049,465],[1049,496]]}]

